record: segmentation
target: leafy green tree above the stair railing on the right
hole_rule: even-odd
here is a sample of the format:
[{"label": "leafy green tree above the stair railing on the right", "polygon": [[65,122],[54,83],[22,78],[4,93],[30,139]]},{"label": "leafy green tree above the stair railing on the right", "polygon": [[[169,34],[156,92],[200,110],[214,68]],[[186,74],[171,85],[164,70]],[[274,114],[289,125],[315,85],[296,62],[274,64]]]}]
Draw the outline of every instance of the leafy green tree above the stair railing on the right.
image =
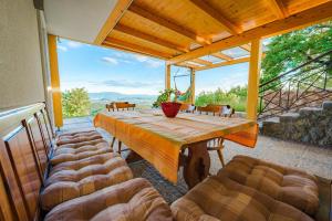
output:
[{"label": "leafy green tree above the stair railing on the right", "polygon": [[330,50],[332,50],[332,21],[274,36],[267,45],[260,81],[264,83],[272,80]]}]

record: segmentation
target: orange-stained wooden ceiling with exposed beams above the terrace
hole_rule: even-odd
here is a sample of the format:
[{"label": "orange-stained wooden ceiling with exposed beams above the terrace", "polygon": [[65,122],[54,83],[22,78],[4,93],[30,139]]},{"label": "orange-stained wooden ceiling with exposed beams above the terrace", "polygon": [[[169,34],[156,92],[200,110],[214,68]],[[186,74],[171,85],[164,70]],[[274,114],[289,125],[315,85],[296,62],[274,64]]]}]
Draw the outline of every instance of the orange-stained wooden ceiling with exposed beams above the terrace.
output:
[{"label": "orange-stained wooden ceiling with exposed beams above the terrace", "polygon": [[227,49],[331,18],[331,0],[118,0],[95,43],[205,70],[249,60]]}]

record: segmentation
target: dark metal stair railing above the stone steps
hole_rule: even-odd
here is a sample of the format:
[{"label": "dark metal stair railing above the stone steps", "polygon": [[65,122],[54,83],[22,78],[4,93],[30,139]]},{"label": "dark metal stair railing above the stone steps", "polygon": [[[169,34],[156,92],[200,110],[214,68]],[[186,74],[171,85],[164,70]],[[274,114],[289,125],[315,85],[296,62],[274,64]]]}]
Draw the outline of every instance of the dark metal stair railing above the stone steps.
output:
[{"label": "dark metal stair railing above the stone steps", "polygon": [[332,50],[259,86],[259,119],[332,97]]}]

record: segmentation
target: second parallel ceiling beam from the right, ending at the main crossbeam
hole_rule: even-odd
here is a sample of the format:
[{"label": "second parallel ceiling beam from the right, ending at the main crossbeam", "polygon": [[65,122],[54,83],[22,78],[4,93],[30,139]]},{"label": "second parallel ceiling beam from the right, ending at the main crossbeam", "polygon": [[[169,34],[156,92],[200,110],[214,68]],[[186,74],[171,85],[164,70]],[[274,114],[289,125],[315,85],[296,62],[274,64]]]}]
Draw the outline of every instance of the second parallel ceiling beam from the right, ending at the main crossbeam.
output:
[{"label": "second parallel ceiling beam from the right, ending at the main crossbeam", "polygon": [[204,11],[206,14],[208,14],[210,18],[218,21],[229,33],[231,34],[238,34],[241,33],[242,30],[231,23],[228,19],[226,19],[219,11],[217,11],[215,8],[209,6],[206,1],[203,0],[190,0],[198,9]]}]

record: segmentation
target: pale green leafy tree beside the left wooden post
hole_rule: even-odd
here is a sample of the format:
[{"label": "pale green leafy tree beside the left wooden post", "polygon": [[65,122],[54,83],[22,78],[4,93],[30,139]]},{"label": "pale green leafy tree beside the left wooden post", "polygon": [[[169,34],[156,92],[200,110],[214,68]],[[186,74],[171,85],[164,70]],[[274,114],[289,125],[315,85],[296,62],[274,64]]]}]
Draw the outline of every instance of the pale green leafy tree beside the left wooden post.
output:
[{"label": "pale green leafy tree beside the left wooden post", "polygon": [[91,102],[87,91],[73,88],[62,93],[62,109],[65,117],[80,117],[90,115]]}]

